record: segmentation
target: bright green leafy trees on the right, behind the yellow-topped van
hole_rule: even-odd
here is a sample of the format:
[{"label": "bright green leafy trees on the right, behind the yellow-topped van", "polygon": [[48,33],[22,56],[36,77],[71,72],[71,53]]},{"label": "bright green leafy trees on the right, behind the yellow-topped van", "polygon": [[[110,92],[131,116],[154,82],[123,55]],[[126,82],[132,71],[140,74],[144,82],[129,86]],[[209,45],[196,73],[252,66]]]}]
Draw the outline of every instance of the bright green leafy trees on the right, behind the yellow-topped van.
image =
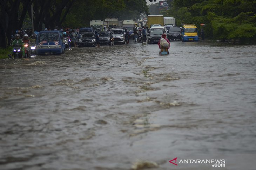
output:
[{"label": "bright green leafy trees on the right, behind the yellow-topped van", "polygon": [[[256,43],[256,0],[173,0],[166,12],[180,22],[196,24],[207,38]],[[167,15],[167,16],[168,16]],[[165,15],[166,16],[166,15]]]}]

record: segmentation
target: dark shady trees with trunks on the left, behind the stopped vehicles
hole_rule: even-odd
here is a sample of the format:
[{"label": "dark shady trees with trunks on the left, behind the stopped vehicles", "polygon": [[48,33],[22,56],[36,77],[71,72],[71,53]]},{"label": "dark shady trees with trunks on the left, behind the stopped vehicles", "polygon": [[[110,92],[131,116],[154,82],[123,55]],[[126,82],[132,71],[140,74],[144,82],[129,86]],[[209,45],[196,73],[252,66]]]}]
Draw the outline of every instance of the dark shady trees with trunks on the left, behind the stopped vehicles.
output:
[{"label": "dark shady trees with trunks on the left, behind the stopped vehicles", "polygon": [[142,13],[148,14],[146,0],[1,0],[0,47],[5,48],[6,38],[10,42],[11,35],[22,29],[26,15],[33,17],[34,29],[41,31],[43,26],[52,30],[64,25],[80,27],[89,25],[90,19],[106,17],[138,19]]}]

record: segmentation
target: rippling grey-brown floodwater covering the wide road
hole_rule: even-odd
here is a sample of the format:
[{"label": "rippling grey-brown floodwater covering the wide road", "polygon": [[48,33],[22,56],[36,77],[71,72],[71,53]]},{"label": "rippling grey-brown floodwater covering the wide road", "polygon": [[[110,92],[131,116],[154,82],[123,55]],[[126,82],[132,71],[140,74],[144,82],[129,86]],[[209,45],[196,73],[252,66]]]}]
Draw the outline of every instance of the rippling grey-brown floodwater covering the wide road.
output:
[{"label": "rippling grey-brown floodwater covering the wide road", "polygon": [[0,169],[166,170],[195,153],[256,154],[255,49],[171,42],[160,56],[131,43],[1,60]]}]

